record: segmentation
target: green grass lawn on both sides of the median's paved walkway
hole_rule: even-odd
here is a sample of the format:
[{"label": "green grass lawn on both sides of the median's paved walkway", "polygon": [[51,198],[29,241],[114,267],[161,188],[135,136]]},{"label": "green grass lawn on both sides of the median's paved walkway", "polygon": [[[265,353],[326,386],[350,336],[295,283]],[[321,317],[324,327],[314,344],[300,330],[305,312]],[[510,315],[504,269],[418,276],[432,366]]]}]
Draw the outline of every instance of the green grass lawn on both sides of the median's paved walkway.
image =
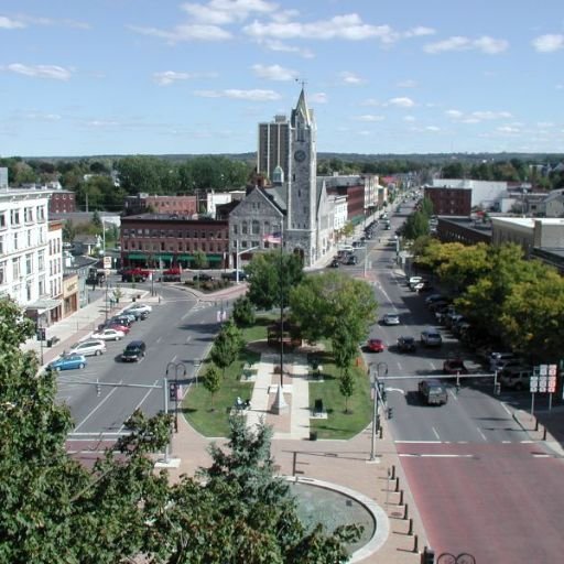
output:
[{"label": "green grass lawn on both sides of the median's paved walkway", "polygon": [[[275,318],[274,315],[258,316],[253,327],[243,329],[246,343],[267,338],[267,326]],[[348,411],[345,412],[345,398],[339,391],[339,371],[333,364],[330,345],[325,344],[326,351],[321,352],[323,366],[323,382],[310,383],[310,404],[313,409],[315,400],[322,399],[327,411],[326,420],[311,420],[311,430],[317,432],[317,438],[350,438],[360,433],[371,420],[372,402],[370,398],[370,383],[367,371],[360,358],[360,366],[350,368],[355,378],[355,391],[348,400]],[[209,392],[200,384],[193,386],[182,404],[183,413],[189,424],[204,436],[224,437],[229,432],[229,412],[236,398],[242,400],[252,395],[252,382],[240,381],[242,367],[246,362],[254,364],[260,355],[243,348],[239,358],[225,371],[221,388],[215,394],[212,404]],[[209,366],[210,360],[203,362],[202,376]]]}]

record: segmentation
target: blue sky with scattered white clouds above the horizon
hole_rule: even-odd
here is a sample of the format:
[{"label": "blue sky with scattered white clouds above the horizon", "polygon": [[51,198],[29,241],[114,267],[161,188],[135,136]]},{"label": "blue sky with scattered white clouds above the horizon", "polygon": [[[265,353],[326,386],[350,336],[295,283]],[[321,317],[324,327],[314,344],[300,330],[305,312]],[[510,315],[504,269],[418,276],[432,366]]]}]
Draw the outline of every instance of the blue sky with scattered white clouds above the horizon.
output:
[{"label": "blue sky with scattered white clouds above the horizon", "polygon": [[563,0],[2,0],[0,156],[564,152]]}]

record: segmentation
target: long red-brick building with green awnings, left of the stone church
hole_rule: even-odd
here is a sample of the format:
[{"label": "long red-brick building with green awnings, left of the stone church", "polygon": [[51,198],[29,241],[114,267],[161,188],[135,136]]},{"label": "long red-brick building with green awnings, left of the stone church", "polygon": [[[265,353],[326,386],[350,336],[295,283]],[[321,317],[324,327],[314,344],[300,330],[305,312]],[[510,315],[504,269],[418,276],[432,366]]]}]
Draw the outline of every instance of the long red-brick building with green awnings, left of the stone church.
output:
[{"label": "long red-brick building with green awnings, left of the stone church", "polygon": [[121,219],[123,267],[191,268],[202,251],[212,268],[224,268],[229,250],[226,220],[189,219],[165,214],[142,214]]}]

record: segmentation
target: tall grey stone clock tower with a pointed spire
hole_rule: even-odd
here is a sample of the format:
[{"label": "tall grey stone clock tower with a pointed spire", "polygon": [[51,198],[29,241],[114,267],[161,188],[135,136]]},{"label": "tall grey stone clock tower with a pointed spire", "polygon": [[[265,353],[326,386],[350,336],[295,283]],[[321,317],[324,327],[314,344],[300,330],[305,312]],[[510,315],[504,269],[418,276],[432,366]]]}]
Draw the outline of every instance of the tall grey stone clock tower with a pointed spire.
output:
[{"label": "tall grey stone clock tower with a pointed spire", "polygon": [[290,132],[286,241],[303,250],[305,262],[311,263],[316,254],[317,150],[315,119],[303,87],[292,110]]}]

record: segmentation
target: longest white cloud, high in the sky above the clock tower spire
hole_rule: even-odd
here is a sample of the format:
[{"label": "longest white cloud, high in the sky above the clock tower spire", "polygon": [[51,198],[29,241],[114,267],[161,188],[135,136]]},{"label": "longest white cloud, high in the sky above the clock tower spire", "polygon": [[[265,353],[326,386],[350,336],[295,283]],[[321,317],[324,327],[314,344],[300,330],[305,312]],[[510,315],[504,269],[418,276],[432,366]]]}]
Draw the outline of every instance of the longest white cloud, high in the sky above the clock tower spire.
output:
[{"label": "longest white cloud, high in the sky above the clock tower spire", "polygon": [[243,32],[254,39],[306,39],[362,41],[378,39],[382,43],[391,43],[399,37],[398,32],[389,25],[370,25],[364,23],[356,13],[335,15],[329,20],[318,20],[312,23],[296,21],[289,22],[258,22],[254,21],[243,28]]}]

